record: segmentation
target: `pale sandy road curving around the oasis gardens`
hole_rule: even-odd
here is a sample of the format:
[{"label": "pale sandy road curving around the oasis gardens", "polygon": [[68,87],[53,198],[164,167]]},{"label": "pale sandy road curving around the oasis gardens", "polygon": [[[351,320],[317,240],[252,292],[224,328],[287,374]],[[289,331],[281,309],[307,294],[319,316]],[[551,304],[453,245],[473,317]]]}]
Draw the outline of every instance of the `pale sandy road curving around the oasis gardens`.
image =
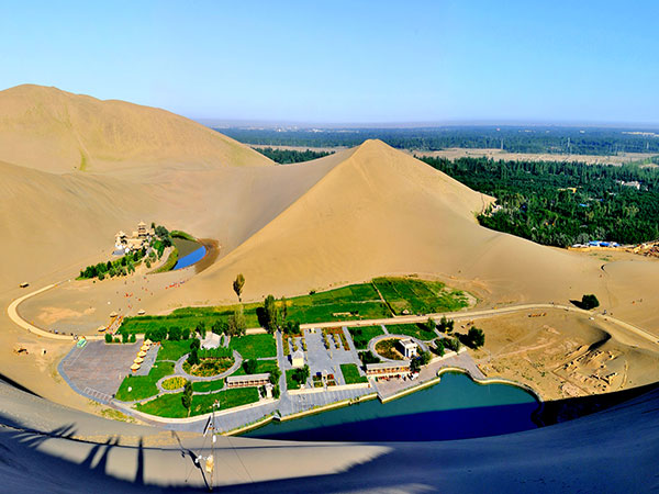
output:
[{"label": "pale sandy road curving around the oasis gardens", "polygon": [[[31,296],[34,296],[34,295],[43,293],[47,290],[51,290],[52,288],[57,287],[57,284],[59,284],[59,283],[49,284],[47,287],[44,287],[40,290],[27,293],[26,295],[23,295],[16,300],[14,300],[11,304],[9,304],[9,307],[7,308],[9,318],[11,321],[13,321],[15,324],[18,324],[19,326],[21,326],[22,328],[27,329],[29,332],[34,333],[35,335],[43,336],[45,338],[71,340],[72,339],[71,336],[56,335],[54,333],[48,333],[48,332],[45,332],[45,330],[30,324],[27,321],[23,319],[18,312],[18,306],[22,302],[30,299]],[[332,322],[332,323],[301,324],[300,327],[303,329],[308,329],[308,328],[313,328],[313,327],[315,327],[315,328],[336,327],[336,326],[355,327],[355,326],[373,326],[373,325],[380,325],[380,324],[387,325],[387,324],[401,324],[401,323],[423,323],[423,322],[427,321],[428,317],[433,317],[434,319],[437,319],[439,317],[445,316],[445,317],[449,317],[449,318],[454,318],[454,319],[465,319],[465,318],[476,318],[476,317],[487,317],[487,316],[495,316],[495,315],[503,315],[503,314],[512,314],[512,313],[521,312],[521,311],[537,311],[537,310],[543,310],[543,308],[558,308],[558,310],[562,310],[562,311],[567,311],[567,312],[574,312],[578,314],[583,314],[583,315],[588,315],[591,317],[601,318],[607,323],[615,324],[630,333],[634,333],[637,336],[640,336],[641,338],[645,338],[648,341],[654,343],[655,345],[659,345],[658,336],[652,335],[651,333],[648,333],[645,329],[641,329],[629,323],[625,323],[624,321],[621,321],[618,318],[611,317],[610,315],[595,314],[593,312],[585,311],[583,308],[573,307],[570,305],[559,305],[559,304],[522,304],[522,305],[510,305],[507,307],[499,307],[499,308],[483,308],[483,310],[479,310],[479,311],[426,314],[426,315],[422,315],[422,316],[410,315],[410,316],[388,317],[388,318],[381,318],[381,319],[338,321],[338,322]],[[248,332],[256,333],[254,329],[249,329]],[[87,339],[101,339],[102,337],[98,336],[98,335],[93,335],[93,336],[86,336],[86,338]]]}]

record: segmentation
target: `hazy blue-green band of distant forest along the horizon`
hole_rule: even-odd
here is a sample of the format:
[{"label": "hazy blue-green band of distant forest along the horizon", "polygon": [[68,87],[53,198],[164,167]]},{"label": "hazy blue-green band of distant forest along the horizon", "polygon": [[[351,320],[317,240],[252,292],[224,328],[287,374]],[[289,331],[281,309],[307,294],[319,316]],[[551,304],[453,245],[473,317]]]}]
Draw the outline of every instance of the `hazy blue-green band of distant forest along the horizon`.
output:
[{"label": "hazy blue-green band of distant forest along the horizon", "polygon": [[217,131],[242,143],[263,146],[353,147],[360,145],[366,139],[377,138],[399,149],[418,150],[462,147],[557,155],[659,154],[659,135],[657,133],[639,133],[634,130],[608,127],[481,125],[320,130],[230,127]]}]

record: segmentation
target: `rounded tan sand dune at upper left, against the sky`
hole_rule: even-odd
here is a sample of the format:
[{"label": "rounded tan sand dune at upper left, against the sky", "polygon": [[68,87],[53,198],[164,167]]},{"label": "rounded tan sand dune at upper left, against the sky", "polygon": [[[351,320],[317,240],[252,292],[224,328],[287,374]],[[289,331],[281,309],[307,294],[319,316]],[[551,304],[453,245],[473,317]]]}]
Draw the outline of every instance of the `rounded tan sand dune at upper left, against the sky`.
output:
[{"label": "rounded tan sand dune at upper left, against the sky", "polygon": [[0,159],[51,172],[142,164],[264,166],[257,151],[165,110],[56,88],[0,91]]}]

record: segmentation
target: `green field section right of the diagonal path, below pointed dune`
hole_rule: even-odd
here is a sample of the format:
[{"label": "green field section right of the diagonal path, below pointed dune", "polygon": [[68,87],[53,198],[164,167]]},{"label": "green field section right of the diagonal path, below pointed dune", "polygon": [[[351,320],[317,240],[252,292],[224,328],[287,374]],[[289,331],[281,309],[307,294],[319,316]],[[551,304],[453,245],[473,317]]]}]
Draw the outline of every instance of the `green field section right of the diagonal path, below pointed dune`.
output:
[{"label": "green field section right of the diagonal path, below pointed dune", "polygon": [[469,306],[463,292],[449,290],[440,281],[415,278],[375,278],[378,288],[391,310],[398,315],[453,312]]}]

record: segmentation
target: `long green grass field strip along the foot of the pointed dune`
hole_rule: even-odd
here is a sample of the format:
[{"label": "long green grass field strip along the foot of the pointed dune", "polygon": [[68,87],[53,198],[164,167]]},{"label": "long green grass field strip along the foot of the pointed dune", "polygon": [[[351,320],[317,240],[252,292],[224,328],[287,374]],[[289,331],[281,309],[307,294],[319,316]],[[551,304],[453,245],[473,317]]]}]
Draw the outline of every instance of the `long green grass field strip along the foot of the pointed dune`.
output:
[{"label": "long green grass field strip along the foot of the pointed dune", "polygon": [[[281,306],[281,302],[278,304]],[[243,305],[247,327],[260,326],[257,310],[261,305]],[[350,284],[287,300],[288,319],[300,323],[383,318],[405,311],[411,314],[450,312],[468,305],[469,299],[463,292],[450,290],[439,281],[415,278],[376,278],[370,283]],[[143,334],[158,327],[178,326],[192,330],[200,322],[210,329],[216,321],[226,323],[235,307],[183,307],[166,316],[126,317],[121,329]]]}]

